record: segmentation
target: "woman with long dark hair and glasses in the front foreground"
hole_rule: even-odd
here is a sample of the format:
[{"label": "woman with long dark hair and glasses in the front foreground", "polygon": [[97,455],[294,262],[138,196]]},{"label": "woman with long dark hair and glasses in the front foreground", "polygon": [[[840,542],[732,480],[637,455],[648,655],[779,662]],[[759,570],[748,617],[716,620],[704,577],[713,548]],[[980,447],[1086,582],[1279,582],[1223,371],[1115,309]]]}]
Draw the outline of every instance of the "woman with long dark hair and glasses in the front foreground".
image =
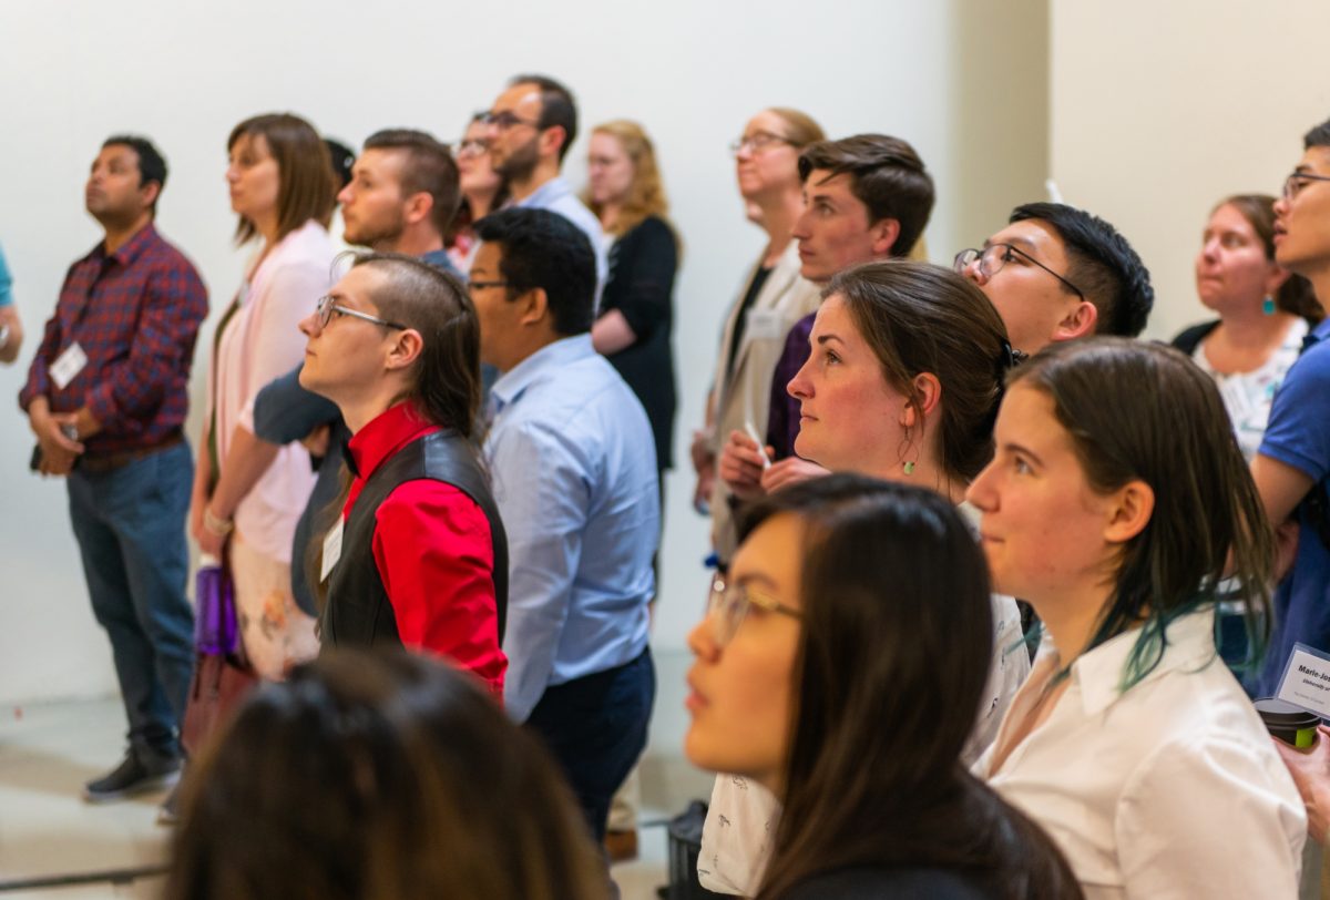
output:
[{"label": "woman with long dark hair and glasses in the front foreground", "polygon": [[[1048,838],[962,762],[994,622],[954,504],[833,475],[738,518],[729,576],[689,634],[685,751],[783,807],[746,896],[1079,897]],[[712,865],[704,847],[704,880]]]}]

